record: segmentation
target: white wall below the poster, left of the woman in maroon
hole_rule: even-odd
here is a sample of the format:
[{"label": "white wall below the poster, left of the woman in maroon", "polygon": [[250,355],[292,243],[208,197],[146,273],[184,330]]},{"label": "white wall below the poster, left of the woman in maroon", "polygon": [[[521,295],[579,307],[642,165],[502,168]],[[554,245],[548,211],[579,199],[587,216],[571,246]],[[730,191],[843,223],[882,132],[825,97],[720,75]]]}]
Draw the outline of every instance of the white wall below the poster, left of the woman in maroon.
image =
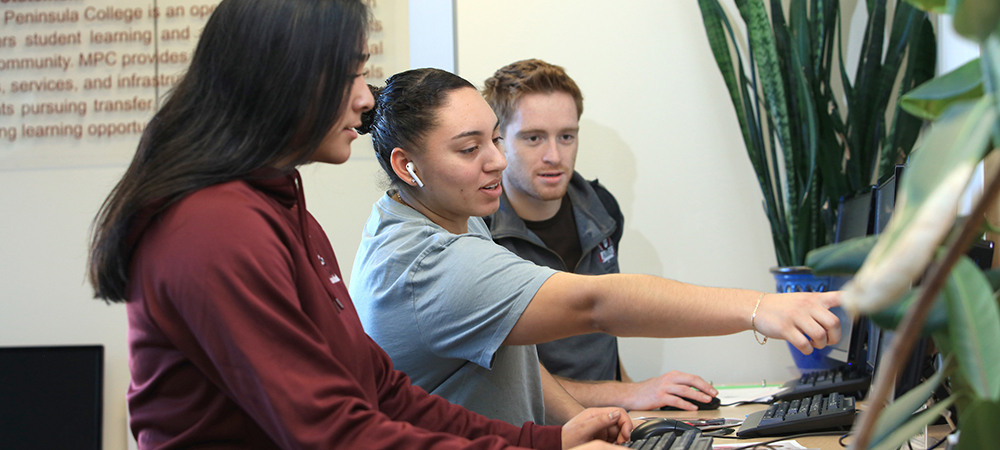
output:
[{"label": "white wall below the poster, left of the woman in maroon", "polygon": [[124,167],[0,171],[0,346],[105,346],[104,448],[125,448],[125,308],[93,300],[87,232]]}]

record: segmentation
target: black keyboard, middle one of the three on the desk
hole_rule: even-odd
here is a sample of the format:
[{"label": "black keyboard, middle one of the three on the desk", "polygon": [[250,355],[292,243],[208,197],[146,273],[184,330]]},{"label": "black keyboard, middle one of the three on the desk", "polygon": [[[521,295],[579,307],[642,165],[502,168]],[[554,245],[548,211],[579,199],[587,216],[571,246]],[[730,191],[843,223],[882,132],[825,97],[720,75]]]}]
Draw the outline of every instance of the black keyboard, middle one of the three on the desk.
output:
[{"label": "black keyboard, middle one of the three on the desk", "polygon": [[854,424],[854,397],[817,394],[774,402],[747,416],[738,437],[780,436],[813,431],[848,430]]}]

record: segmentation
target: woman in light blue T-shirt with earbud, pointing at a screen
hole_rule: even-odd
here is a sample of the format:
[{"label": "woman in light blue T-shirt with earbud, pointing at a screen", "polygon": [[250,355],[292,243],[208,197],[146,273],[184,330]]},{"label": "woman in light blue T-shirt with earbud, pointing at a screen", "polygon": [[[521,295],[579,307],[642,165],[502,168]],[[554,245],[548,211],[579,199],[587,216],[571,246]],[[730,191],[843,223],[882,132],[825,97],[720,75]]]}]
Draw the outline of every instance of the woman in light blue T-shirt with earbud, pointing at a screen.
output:
[{"label": "woman in light blue T-shirt with earbud, pointing at a screen", "polygon": [[[593,332],[754,330],[808,353],[840,339],[829,311],[839,293],[765,295],[647,275],[578,275],[517,257],[493,242],[480,218],[499,207],[506,167],[490,106],[471,83],[437,69],[386,83],[361,131],[371,132],[392,188],[364,227],[351,294],[365,330],[429,392],[510,423],[562,423],[588,405],[539,367],[533,344]],[[707,402],[703,387],[677,394]]]}]

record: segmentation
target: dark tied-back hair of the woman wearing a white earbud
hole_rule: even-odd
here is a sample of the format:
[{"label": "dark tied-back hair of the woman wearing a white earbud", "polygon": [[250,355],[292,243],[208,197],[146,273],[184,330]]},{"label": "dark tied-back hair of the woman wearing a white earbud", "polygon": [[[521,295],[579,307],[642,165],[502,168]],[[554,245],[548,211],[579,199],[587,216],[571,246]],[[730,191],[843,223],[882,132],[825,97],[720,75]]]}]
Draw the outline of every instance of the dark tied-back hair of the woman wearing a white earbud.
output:
[{"label": "dark tied-back hair of the woman wearing a white earbud", "polygon": [[392,150],[420,151],[424,137],[437,126],[437,111],[448,94],[461,88],[476,89],[466,79],[441,69],[400,72],[385,80],[385,87],[368,88],[375,106],[361,114],[358,132],[371,133],[375,157],[397,187],[409,185],[392,170]]}]

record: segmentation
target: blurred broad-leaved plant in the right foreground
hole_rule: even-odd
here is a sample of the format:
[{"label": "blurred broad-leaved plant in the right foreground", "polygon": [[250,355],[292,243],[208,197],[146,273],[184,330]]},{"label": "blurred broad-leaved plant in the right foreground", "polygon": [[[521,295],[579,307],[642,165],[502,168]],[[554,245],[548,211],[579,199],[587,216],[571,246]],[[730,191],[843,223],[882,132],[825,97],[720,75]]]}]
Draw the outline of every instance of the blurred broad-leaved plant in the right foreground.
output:
[{"label": "blurred broad-leaved plant in the right foreground", "polygon": [[[982,271],[964,255],[971,241],[982,235],[984,212],[997,205],[1000,173],[991,174],[968,218],[956,216],[974,167],[1000,144],[1000,3],[913,4],[953,14],[955,30],[978,42],[982,56],[902,98],[904,108],[933,123],[910,158],[886,230],[816,250],[808,264],[822,273],[856,271],[844,288],[844,306],[896,329],[897,337],[876,373],[868,409],[855,423],[853,448],[897,448],[952,406],[958,411],[959,449],[995,448],[1000,424],[1000,272]],[[911,289],[918,279],[919,286]],[[886,406],[903,365],[899,356],[910,354],[920,334],[932,336],[945,362],[933,377]],[[915,415],[941,383],[950,396]]]}]

